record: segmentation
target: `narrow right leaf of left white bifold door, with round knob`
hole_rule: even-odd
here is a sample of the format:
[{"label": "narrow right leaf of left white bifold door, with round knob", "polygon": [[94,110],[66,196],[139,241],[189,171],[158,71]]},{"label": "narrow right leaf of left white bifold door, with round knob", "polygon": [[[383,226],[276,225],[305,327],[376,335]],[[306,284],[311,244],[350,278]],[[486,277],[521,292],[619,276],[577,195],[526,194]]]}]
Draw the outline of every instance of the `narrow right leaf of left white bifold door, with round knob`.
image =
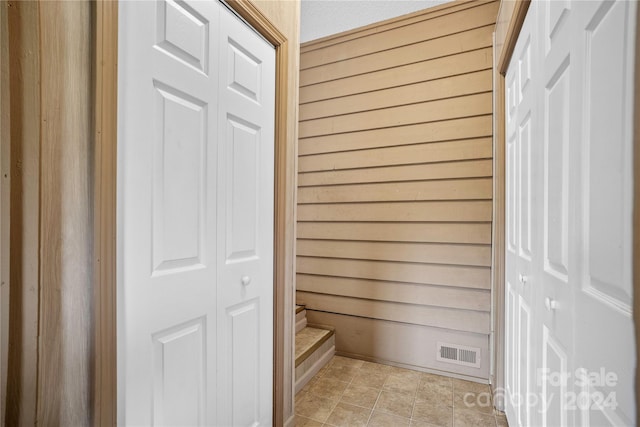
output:
[{"label": "narrow right leaf of left white bifold door, with round knob", "polygon": [[275,50],[225,10],[218,109],[218,425],[271,423]]}]

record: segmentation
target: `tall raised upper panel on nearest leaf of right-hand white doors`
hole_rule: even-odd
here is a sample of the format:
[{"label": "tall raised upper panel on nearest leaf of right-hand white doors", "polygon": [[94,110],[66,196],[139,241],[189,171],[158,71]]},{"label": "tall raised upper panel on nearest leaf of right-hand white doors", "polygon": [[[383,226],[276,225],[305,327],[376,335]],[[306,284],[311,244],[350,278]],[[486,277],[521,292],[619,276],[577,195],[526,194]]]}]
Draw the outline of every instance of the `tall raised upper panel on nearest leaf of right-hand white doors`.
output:
[{"label": "tall raised upper panel on nearest leaf of right-hand white doors", "polygon": [[602,3],[586,31],[584,137],[585,284],[602,303],[631,313],[632,87],[628,6]]}]

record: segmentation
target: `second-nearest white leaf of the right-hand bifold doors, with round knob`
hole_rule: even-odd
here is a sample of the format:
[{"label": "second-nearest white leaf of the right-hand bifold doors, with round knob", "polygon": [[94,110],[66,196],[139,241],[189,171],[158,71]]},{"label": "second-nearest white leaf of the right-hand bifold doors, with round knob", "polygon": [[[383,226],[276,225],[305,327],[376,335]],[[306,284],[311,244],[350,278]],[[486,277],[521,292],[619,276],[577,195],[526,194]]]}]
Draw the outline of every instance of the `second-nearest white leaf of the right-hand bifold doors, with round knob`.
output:
[{"label": "second-nearest white leaf of the right-hand bifold doors, with round knob", "polygon": [[[577,230],[572,227],[577,205],[576,158],[570,152],[576,141],[578,123],[574,115],[579,102],[579,79],[574,71],[572,43],[573,9],[570,1],[542,1],[537,4],[537,34],[540,40],[539,109],[542,115],[539,138],[543,146],[541,168],[542,257],[539,273],[538,321],[536,333],[542,337],[537,373],[544,405],[542,425],[574,424],[575,411],[568,407],[574,393],[573,370],[575,256]],[[545,304],[546,303],[546,304]],[[557,306],[557,307],[554,307]],[[546,373],[546,374],[544,374]]]}]

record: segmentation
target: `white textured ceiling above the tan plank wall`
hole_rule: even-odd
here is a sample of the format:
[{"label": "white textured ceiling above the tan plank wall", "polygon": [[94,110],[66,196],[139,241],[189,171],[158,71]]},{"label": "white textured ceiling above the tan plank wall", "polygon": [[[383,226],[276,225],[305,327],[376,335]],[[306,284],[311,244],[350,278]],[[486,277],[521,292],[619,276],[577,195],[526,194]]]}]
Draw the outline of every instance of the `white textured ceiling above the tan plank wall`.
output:
[{"label": "white textured ceiling above the tan plank wall", "polygon": [[302,0],[300,42],[426,9],[451,0]]}]

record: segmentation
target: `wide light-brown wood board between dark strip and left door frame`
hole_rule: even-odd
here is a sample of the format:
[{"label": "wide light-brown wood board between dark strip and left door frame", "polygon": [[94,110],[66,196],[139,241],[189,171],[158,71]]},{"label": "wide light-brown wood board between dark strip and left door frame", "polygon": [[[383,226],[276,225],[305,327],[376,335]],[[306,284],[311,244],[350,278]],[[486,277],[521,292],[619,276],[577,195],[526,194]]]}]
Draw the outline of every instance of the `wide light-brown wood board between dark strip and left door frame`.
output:
[{"label": "wide light-brown wood board between dark strip and left door frame", "polygon": [[93,393],[90,2],[41,1],[39,425],[88,425]]}]

